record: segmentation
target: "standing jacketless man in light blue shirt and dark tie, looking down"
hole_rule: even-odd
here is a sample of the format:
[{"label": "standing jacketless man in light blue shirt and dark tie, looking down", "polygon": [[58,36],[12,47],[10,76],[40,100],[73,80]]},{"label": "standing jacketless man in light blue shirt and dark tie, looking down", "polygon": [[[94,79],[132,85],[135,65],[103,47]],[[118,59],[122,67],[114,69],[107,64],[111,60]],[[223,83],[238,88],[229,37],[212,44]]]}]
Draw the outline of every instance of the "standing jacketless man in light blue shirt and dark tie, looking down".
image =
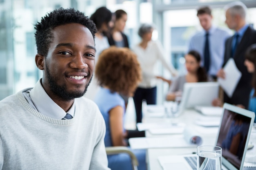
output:
[{"label": "standing jacketless man in light blue shirt and dark tie, looking down", "polygon": [[[188,50],[195,50],[200,53],[202,66],[204,66],[207,73],[215,79],[218,70],[220,70],[222,66],[225,41],[230,37],[230,34],[228,31],[212,24],[213,16],[211,15],[211,9],[209,7],[201,7],[198,9],[197,16],[203,30],[195,33],[195,35],[191,37]],[[206,44],[207,39],[208,44]]]}]

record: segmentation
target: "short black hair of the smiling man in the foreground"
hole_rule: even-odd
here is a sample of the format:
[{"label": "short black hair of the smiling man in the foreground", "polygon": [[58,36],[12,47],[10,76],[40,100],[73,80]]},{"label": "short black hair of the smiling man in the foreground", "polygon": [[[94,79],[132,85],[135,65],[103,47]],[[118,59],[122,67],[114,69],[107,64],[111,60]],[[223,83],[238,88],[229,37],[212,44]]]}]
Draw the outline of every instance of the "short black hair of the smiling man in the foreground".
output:
[{"label": "short black hair of the smiling man in the foreground", "polygon": [[45,17],[42,17],[41,22],[37,22],[34,28],[36,29],[36,47],[37,53],[43,56],[47,56],[49,50],[49,44],[52,42],[52,30],[56,26],[78,23],[86,26],[92,33],[93,38],[97,32],[96,26],[88,16],[84,13],[77,11],[73,8],[69,9],[55,9],[54,11],[47,13]]}]

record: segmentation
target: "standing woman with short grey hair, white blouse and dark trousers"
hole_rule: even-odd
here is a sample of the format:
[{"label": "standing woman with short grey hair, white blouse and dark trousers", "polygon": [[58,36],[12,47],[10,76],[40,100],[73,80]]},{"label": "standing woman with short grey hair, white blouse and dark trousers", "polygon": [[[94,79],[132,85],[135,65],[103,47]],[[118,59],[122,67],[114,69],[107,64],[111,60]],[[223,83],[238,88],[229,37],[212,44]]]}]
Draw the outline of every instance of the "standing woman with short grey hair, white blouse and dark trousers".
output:
[{"label": "standing woman with short grey hair, white blouse and dark trousers", "polygon": [[142,69],[142,82],[139,84],[133,97],[137,123],[142,120],[142,100],[146,100],[147,104],[156,104],[157,79],[166,80],[164,77],[155,73],[157,61],[161,61],[162,65],[172,75],[177,75],[175,68],[172,65],[167,64],[162,45],[151,39],[153,30],[153,25],[142,24],[138,31],[138,34],[141,37],[141,42],[132,48],[132,50],[137,54]]}]

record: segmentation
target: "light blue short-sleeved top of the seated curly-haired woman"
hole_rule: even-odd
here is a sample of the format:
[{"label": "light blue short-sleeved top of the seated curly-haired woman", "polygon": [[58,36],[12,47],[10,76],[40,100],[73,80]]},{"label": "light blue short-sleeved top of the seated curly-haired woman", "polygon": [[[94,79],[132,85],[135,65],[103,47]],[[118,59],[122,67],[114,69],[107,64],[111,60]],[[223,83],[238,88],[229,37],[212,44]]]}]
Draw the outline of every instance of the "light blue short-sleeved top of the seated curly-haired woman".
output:
[{"label": "light blue short-sleeved top of the seated curly-haired woman", "polygon": [[[124,99],[116,92],[111,93],[107,88],[100,88],[97,92],[94,102],[98,105],[101,114],[106,123],[106,135],[105,135],[105,146],[113,146],[111,139],[111,131],[110,131],[110,122],[109,122],[109,111],[116,106],[121,106],[124,108],[125,112],[125,103]],[[120,113],[123,114],[124,113]],[[123,130],[124,129],[124,119],[123,119]]]}]

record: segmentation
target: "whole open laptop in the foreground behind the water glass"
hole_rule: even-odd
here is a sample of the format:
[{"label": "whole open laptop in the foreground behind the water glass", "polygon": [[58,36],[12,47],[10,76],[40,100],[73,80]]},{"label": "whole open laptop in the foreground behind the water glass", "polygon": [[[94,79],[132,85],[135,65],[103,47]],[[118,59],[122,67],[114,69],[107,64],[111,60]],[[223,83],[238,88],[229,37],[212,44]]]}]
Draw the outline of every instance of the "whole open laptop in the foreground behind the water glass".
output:
[{"label": "whole open laptop in the foreground behind the water glass", "polygon": [[[222,148],[222,170],[245,170],[243,163],[249,136],[253,127],[254,112],[225,103],[216,146]],[[234,126],[239,124],[240,126]],[[232,132],[234,135],[231,135]],[[240,136],[236,147],[231,147],[232,136]],[[236,137],[237,137],[236,136]],[[232,138],[234,139],[234,138]],[[206,145],[206,144],[204,144]],[[160,156],[158,161],[164,170],[196,170],[196,154]],[[192,168],[195,165],[195,168]]]}]

